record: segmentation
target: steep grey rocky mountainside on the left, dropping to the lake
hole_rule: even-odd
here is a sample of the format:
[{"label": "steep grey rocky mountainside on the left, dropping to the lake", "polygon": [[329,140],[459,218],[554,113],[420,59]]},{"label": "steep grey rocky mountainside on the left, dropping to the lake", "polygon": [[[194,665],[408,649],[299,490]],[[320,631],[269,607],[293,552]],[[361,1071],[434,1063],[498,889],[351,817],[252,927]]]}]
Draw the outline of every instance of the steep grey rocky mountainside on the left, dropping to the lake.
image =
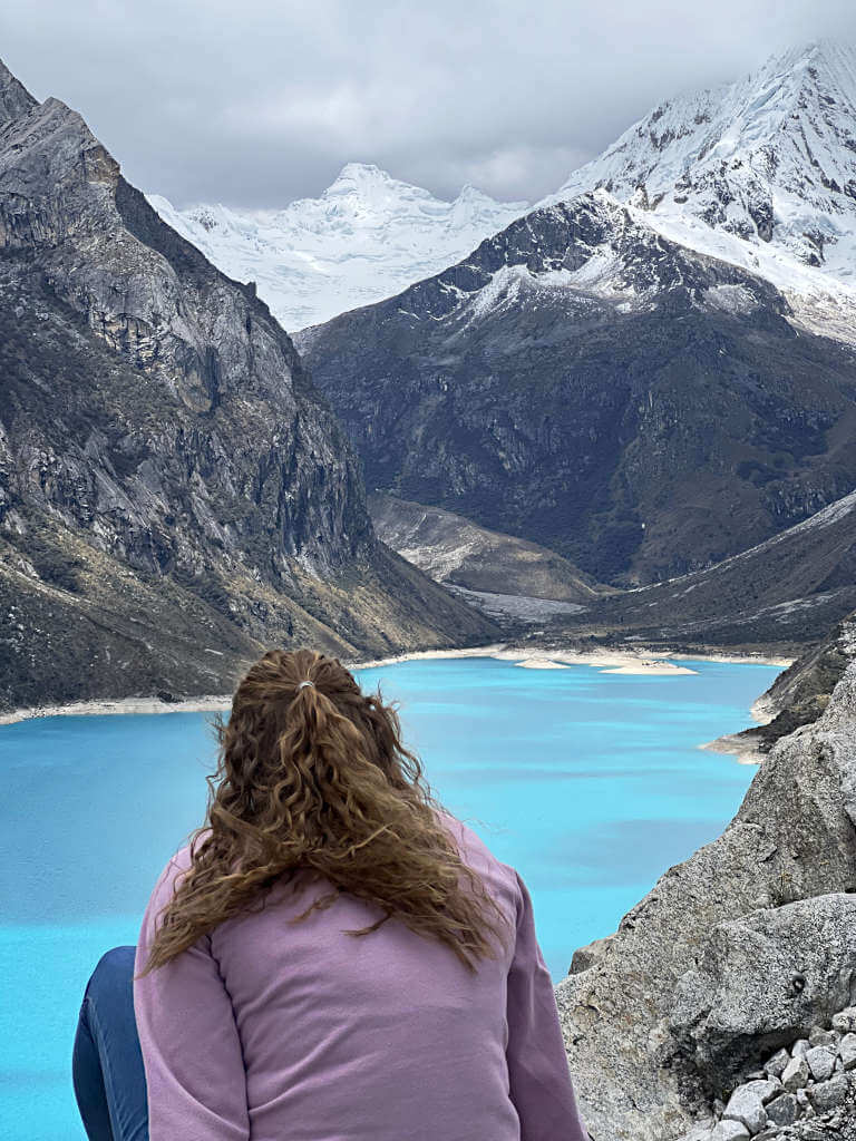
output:
[{"label": "steep grey rocky mountainside on the left, dropping to the lake", "polygon": [[487,640],[378,542],[255,290],[5,68],[0,113],[0,706],[224,691],[269,644]]}]

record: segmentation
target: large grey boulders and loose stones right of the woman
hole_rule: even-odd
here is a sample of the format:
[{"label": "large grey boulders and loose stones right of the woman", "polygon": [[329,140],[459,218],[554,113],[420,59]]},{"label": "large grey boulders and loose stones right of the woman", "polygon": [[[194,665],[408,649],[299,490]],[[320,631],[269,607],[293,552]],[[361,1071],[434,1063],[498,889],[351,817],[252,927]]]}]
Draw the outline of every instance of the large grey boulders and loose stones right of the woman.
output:
[{"label": "large grey boulders and loose stones right of the woman", "polygon": [[856,1139],[856,658],[557,1002],[595,1141]]}]

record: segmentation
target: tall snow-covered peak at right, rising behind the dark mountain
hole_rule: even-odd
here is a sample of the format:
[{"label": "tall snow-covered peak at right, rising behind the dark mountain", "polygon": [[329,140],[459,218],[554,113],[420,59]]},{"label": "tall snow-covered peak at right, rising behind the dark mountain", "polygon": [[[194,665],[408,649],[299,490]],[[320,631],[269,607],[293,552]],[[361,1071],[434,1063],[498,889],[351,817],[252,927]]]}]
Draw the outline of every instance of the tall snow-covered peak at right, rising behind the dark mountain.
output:
[{"label": "tall snow-covered peak at right, rising behind the dark mountain", "polygon": [[[847,280],[856,229],[856,51],[818,41],[670,99],[548,201],[604,187]],[[721,252],[721,251],[719,251]]]}]

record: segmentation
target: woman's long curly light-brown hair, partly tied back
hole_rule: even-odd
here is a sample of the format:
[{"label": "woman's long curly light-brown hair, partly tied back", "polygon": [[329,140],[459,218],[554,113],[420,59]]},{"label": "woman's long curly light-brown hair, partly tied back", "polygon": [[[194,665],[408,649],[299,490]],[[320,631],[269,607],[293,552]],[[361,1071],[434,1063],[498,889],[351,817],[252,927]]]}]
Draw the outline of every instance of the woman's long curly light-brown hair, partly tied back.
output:
[{"label": "woman's long curly light-brown hair, partly tied back", "polygon": [[[299,893],[299,869],[332,890],[290,923],[346,891],[385,914],[345,934],[365,936],[396,917],[446,944],[470,971],[493,957],[490,936],[501,939],[508,917],[441,823],[445,810],[380,690],[363,694],[337,658],[275,649],[237,686],[228,722],[218,714],[212,723],[219,754],[207,778],[205,823],[192,835],[191,866],[161,912],[142,974],[231,916],[263,907],[282,877]],[[488,906],[503,923],[488,919]]]}]

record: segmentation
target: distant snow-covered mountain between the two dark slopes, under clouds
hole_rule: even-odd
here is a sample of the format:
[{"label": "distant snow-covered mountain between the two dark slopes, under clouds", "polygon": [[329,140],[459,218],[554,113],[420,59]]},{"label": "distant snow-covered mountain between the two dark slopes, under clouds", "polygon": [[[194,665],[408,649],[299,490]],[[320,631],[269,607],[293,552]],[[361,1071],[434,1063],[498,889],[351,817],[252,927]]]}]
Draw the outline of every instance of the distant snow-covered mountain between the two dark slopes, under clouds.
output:
[{"label": "distant snow-covered mountain between the two dark slopes, under clouds", "polygon": [[286,330],[380,301],[438,273],[527,209],[473,186],[444,202],[360,163],[348,163],[321,197],[283,210],[177,210],[156,194],[148,201],[218,268],[255,281]]}]

